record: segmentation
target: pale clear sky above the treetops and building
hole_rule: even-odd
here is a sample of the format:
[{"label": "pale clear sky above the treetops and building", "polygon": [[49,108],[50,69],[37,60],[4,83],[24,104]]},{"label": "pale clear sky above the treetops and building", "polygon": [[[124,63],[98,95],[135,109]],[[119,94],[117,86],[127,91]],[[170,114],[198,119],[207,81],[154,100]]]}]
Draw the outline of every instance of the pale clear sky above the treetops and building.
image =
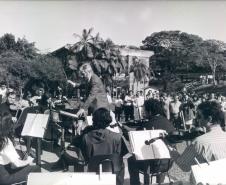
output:
[{"label": "pale clear sky above the treetops and building", "polygon": [[40,52],[78,40],[84,28],[120,45],[141,46],[153,32],[180,30],[226,42],[226,1],[0,1],[0,36],[35,42]]}]

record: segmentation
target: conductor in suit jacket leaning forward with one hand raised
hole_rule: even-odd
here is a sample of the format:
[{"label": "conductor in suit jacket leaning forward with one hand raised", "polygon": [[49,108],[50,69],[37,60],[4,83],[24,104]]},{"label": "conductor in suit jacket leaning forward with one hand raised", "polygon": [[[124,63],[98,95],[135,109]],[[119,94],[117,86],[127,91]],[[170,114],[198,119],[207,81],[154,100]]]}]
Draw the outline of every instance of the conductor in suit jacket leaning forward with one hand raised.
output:
[{"label": "conductor in suit jacket leaning forward with one hand raised", "polygon": [[[92,114],[94,110],[99,107],[105,107],[109,109],[109,103],[107,99],[107,94],[101,79],[93,72],[93,69],[89,63],[84,63],[80,68],[80,73],[82,77],[87,81],[87,99],[85,103],[80,107],[77,112],[77,116],[81,116],[84,113]],[[74,87],[78,84],[68,80],[68,83],[72,84]]]}]

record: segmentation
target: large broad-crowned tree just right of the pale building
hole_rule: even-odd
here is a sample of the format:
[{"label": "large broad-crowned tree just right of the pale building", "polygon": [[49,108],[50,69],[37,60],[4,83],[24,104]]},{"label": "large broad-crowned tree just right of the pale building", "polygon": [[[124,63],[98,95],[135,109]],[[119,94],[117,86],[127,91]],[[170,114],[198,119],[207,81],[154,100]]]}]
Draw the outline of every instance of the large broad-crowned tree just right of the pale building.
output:
[{"label": "large broad-crowned tree just right of the pale building", "polygon": [[[192,70],[197,57],[197,50],[202,44],[197,35],[180,31],[161,31],[151,34],[142,41],[142,49],[154,51],[156,66],[159,66],[165,79],[165,88],[177,71]],[[164,77],[165,76],[165,77]]]}]

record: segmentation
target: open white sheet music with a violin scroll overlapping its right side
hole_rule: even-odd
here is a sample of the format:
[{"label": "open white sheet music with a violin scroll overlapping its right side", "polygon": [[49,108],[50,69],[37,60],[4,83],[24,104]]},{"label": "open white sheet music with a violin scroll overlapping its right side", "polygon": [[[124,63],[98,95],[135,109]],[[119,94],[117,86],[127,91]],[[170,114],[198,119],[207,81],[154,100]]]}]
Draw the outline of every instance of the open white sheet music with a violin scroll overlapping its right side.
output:
[{"label": "open white sheet music with a violin scroll overlapping its right side", "polygon": [[150,145],[145,144],[145,141],[159,137],[160,134],[164,133],[166,133],[164,130],[130,131],[130,144],[132,153],[135,154],[136,159],[148,160],[170,158],[169,150],[161,139],[154,141]]}]

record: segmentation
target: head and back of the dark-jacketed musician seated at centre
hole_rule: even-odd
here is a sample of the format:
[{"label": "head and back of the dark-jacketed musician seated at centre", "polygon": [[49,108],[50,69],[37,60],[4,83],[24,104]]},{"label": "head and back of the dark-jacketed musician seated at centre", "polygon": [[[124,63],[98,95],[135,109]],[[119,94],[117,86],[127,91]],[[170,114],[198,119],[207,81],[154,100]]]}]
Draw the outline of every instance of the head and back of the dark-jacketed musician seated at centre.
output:
[{"label": "head and back of the dark-jacketed musician seated at centre", "polygon": [[[107,127],[112,122],[110,111],[106,108],[99,108],[93,113],[93,128],[84,134],[81,143],[81,150],[86,161],[98,155],[121,155],[121,134],[112,132]],[[122,160],[122,159],[121,159]],[[123,185],[124,165],[116,173],[117,185]]]}]

